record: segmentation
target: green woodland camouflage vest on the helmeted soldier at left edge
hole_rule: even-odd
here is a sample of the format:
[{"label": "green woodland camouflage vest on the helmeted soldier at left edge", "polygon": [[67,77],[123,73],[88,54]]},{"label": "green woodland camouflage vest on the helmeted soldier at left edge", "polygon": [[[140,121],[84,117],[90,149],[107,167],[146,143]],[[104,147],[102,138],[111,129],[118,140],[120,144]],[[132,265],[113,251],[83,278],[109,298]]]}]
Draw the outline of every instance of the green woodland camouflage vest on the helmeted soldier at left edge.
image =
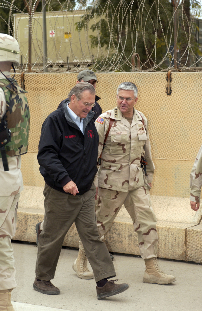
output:
[{"label": "green woodland camouflage vest on the helmeted soldier at left edge", "polygon": [[6,121],[11,130],[11,141],[5,145],[7,157],[22,155],[28,148],[30,113],[25,96],[27,92],[16,82],[14,86],[15,89],[7,79],[0,79],[0,87],[6,97]]}]

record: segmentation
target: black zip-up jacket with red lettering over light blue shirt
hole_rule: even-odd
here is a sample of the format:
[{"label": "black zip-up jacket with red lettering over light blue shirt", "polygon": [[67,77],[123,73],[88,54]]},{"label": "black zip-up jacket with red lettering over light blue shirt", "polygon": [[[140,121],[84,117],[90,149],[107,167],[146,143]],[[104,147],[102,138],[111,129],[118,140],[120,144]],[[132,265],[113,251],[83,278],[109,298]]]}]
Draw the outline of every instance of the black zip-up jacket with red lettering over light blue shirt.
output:
[{"label": "black zip-up jacket with red lettering over light blue shirt", "polygon": [[99,136],[94,112],[90,110],[83,120],[83,135],[70,118],[66,104],[44,121],[37,159],[40,173],[50,187],[66,193],[63,186],[73,180],[79,190],[77,195],[81,195],[91,188],[97,173]]}]

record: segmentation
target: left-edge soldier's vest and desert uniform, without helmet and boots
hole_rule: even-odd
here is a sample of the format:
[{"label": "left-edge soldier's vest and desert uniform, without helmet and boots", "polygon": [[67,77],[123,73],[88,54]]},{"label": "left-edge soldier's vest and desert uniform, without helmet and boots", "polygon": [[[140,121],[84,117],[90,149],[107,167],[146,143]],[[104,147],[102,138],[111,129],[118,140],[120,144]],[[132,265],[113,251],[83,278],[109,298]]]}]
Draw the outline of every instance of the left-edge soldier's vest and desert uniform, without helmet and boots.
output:
[{"label": "left-edge soldier's vest and desert uniform, without helmet and boots", "polygon": [[16,287],[11,238],[15,235],[17,205],[23,190],[21,154],[27,151],[29,135],[30,116],[25,91],[14,84],[17,91],[9,89],[9,82],[0,74],[0,121],[6,113],[12,137],[5,146],[9,166],[6,172],[0,155],[0,290]]}]

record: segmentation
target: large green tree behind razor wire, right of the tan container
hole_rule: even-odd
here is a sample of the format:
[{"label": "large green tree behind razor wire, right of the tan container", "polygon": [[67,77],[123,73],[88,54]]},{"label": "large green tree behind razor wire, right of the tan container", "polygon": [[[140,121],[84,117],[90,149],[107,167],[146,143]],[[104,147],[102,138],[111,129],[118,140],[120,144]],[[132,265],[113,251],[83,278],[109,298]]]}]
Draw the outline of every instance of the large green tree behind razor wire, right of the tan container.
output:
[{"label": "large green tree behind razor wire, right of the tan container", "polygon": [[[200,12],[200,1],[182,0],[177,8],[178,41],[181,64],[189,66],[190,52],[196,53],[193,36],[194,19],[190,18],[190,7]],[[96,0],[85,21],[78,29],[87,27],[89,21],[98,21],[91,26],[95,35],[91,35],[92,47],[101,46],[103,56],[97,69],[105,66],[108,70],[131,70],[131,56],[140,55],[143,70],[160,70],[173,64],[174,19],[173,6],[169,0]],[[181,27],[179,27],[181,25]],[[108,65],[107,65],[108,64]]]}]

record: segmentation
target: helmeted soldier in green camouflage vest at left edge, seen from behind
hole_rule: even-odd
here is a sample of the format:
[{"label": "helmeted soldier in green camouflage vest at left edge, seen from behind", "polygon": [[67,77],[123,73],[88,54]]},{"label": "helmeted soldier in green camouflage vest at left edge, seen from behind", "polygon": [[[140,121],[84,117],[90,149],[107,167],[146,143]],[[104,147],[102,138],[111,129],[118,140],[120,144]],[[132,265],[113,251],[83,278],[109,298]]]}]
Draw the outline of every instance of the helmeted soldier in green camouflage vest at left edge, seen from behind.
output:
[{"label": "helmeted soldier in green camouflage vest at left edge, seen from behind", "polygon": [[16,287],[16,270],[11,238],[15,235],[17,205],[23,190],[21,155],[27,152],[29,135],[26,92],[10,76],[11,66],[19,66],[19,51],[16,39],[0,34],[0,310],[3,311],[14,310],[11,290]]}]

